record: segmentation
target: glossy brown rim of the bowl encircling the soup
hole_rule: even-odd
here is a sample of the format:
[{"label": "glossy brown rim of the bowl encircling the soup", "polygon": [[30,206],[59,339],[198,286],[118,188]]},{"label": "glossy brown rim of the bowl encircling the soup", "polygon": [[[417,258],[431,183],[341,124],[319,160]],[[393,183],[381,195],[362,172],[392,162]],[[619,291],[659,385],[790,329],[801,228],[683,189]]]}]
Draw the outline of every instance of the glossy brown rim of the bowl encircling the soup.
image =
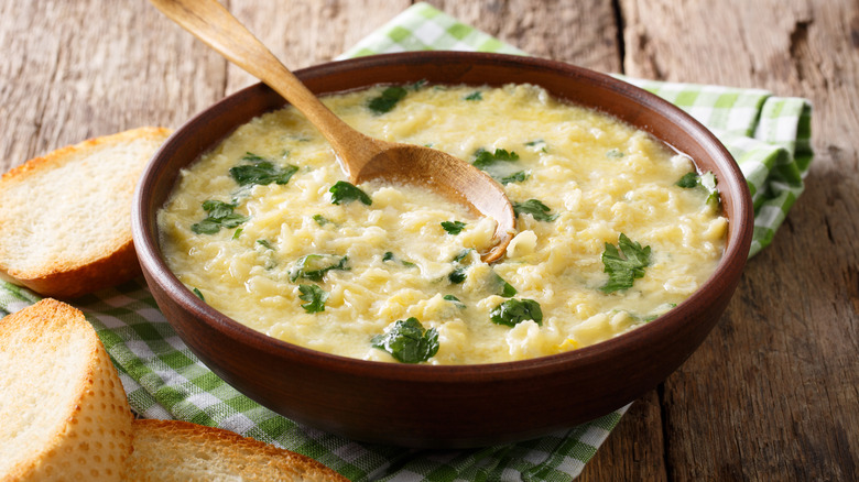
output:
[{"label": "glossy brown rim of the bowl encircling the soup", "polygon": [[[207,118],[211,116],[211,112],[214,111],[222,110],[226,106],[233,102],[243,101],[249,97],[258,96],[260,90],[270,91],[268,86],[260,83],[230,94],[196,113],[181,128],[174,131],[146,165],[135,188],[132,201],[133,241],[140,264],[144,267],[144,272],[149,272],[153,282],[159,283],[165,292],[170,293],[170,296],[172,296],[177,304],[191,311],[195,316],[197,322],[206,324],[209,328],[218,330],[231,339],[239,339],[243,343],[252,344],[257,350],[263,351],[269,355],[276,358],[289,357],[300,363],[325,366],[338,372],[369,370],[373,372],[373,376],[391,381],[426,380],[439,382],[450,380],[468,382],[478,379],[486,380],[487,376],[503,381],[522,376],[534,376],[535,373],[551,373],[553,371],[565,370],[567,365],[578,360],[598,361],[611,358],[613,353],[634,349],[634,346],[648,342],[648,340],[670,337],[678,327],[684,326],[685,324],[695,322],[693,317],[693,305],[695,305],[696,302],[706,305],[708,302],[715,300],[719,293],[721,293],[721,289],[715,289],[715,285],[719,283],[719,280],[722,276],[729,276],[729,278],[736,277],[739,280],[748,258],[753,227],[751,197],[748,184],[746,183],[739,165],[715,134],[691,114],[632,84],[611,77],[607,74],[557,61],[519,55],[452,51],[404,52],[335,61],[296,70],[295,75],[302,80],[305,80],[307,78],[325,76],[331,72],[348,70],[368,65],[382,65],[392,62],[407,65],[415,62],[445,62],[445,59],[452,58],[467,58],[476,63],[512,64],[529,69],[547,69],[564,75],[585,77],[589,81],[597,83],[611,90],[618,91],[631,101],[643,105],[649,110],[661,113],[674,125],[682,128],[682,130],[686,131],[689,135],[694,135],[697,139],[697,142],[716,160],[716,164],[724,167],[722,176],[718,179],[718,186],[727,186],[725,187],[725,190],[731,191],[733,195],[732,197],[735,198],[735,201],[732,202],[733,212],[725,213],[729,219],[728,238],[726,239],[726,248],[716,271],[710,274],[707,281],[688,298],[672,308],[665,315],[644,326],[637,327],[626,333],[591,346],[563,353],[519,361],[456,365],[370,361],[317,351],[282,341],[261,331],[257,331],[229,318],[200,300],[167,267],[166,262],[161,255],[157,233],[154,233],[155,235],[153,235],[148,228],[150,221],[146,216],[145,207],[148,202],[145,202],[145,196],[150,194],[150,184],[157,177],[156,174],[159,174],[161,165],[164,163],[164,157],[171,154],[177,143],[187,141],[186,139],[183,139],[183,133],[192,130],[200,122],[206,122]],[[238,125],[236,125],[236,128],[238,128]],[[646,130],[646,128],[638,128]],[[661,141],[665,143],[664,140]],[[220,142],[220,140],[209,144],[206,149],[214,147],[218,142]],[[721,188],[719,190],[722,191]],[[155,213],[153,212],[151,216],[155,216]]]}]

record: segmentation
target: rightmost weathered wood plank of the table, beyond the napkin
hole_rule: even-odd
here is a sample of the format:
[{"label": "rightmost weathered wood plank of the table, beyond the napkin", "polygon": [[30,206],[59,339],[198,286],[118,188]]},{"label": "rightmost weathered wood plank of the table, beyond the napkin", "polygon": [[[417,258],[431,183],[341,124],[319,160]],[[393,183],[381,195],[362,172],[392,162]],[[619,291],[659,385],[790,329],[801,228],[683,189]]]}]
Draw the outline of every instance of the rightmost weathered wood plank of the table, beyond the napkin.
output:
[{"label": "rightmost weathered wood plank of the table, beyond the napkin", "polygon": [[849,480],[859,473],[859,6],[621,3],[628,74],[815,105],[806,193],[665,383],[668,476]]}]

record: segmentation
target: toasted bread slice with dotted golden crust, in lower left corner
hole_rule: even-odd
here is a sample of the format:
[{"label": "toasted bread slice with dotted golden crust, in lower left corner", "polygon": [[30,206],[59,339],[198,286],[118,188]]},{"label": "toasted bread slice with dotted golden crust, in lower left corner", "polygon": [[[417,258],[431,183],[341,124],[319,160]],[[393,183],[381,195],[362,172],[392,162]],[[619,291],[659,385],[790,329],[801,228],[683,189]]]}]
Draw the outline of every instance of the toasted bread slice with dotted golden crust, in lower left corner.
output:
[{"label": "toasted bread slice with dotted golden crust, in lower left corner", "polygon": [[122,480],[132,418],[79,310],[43,299],[0,319],[0,481]]}]

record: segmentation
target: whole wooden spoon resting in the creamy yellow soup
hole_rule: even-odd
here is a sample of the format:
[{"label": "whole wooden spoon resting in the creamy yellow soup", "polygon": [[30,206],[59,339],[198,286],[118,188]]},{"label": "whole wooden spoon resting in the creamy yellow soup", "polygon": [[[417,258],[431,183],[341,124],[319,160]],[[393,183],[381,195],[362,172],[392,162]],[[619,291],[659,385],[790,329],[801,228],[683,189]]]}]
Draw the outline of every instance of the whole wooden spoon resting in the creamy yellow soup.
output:
[{"label": "whole wooden spoon resting in the creamy yellow soup", "polygon": [[515,215],[504,190],[475,166],[428,147],[372,139],[334,114],[244,25],[216,0],[150,0],[165,15],[295,106],[334,147],[355,183],[384,179],[430,189],[498,222],[496,244],[481,259],[504,255]]}]

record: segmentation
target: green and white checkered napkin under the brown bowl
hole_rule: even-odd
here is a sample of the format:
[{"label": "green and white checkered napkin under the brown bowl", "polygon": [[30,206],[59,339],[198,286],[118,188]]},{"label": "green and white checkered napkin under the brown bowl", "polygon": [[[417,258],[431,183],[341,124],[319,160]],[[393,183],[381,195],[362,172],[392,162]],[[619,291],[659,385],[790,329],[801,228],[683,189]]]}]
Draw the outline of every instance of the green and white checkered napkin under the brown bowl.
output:
[{"label": "green and white checkered napkin under the brown bowl", "polygon": [[[417,3],[342,57],[415,50],[523,54]],[[717,133],[739,162],[754,198],[752,254],[768,245],[802,193],[812,161],[808,102],[763,90],[627,80],[682,107]],[[0,282],[0,311],[13,313],[37,299]],[[180,340],[142,280],[75,305],[96,328],[132,408],[142,417],[224,427],[313,457],[354,481],[567,481],[581,471],[626,412],[621,408],[536,440],[475,450],[358,443],[283,418],[215,376]]]}]

